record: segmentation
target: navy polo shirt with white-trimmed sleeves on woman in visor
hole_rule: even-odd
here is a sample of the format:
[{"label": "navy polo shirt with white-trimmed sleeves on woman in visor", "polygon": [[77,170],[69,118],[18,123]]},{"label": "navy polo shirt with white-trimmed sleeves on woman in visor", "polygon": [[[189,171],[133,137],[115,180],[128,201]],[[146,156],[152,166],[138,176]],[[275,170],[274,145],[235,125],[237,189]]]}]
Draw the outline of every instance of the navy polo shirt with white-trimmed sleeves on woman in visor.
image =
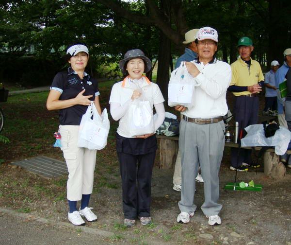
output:
[{"label": "navy polo shirt with white-trimmed sleeves on woman in visor", "polygon": [[[95,96],[100,95],[97,81],[84,72],[81,79],[77,72],[71,67],[67,71],[57,73],[52,81],[50,89],[57,90],[61,93],[59,100],[69,100],[75,98],[83,89],[86,95],[93,95],[89,100],[94,101]],[[73,105],[60,110],[61,125],[80,125],[82,116],[85,114],[88,105]]]}]

